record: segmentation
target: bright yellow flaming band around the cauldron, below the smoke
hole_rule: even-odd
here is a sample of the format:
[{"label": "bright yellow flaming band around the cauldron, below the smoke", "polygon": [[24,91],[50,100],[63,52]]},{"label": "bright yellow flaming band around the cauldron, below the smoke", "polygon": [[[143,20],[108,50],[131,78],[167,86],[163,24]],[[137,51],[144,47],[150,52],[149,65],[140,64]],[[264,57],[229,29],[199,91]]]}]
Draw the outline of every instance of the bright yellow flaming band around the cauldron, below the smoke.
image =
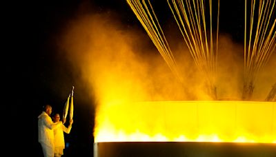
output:
[{"label": "bright yellow flaming band around the cauldron, below the smoke", "polygon": [[152,101],[100,107],[95,142],[275,143],[276,103]]}]

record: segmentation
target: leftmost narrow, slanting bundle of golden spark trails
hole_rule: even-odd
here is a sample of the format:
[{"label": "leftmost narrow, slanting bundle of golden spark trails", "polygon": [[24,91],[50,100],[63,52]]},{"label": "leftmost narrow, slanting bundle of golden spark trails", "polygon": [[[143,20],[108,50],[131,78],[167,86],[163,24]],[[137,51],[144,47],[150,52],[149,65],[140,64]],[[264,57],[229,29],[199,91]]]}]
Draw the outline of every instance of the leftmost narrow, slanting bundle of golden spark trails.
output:
[{"label": "leftmost narrow, slanting bundle of golden spark trails", "polygon": [[159,21],[155,15],[150,0],[126,1],[128,2],[128,5],[132,11],[135,13],[137,19],[139,19],[140,23],[143,25],[144,29],[148,33],[148,36],[150,36],[150,39],[155,44],[157,50],[170,67],[170,70],[172,70],[172,72],[177,76],[179,81],[182,81],[181,76],[179,75],[179,71],[177,70],[175,57],[173,56],[164,32],[159,25]]}]

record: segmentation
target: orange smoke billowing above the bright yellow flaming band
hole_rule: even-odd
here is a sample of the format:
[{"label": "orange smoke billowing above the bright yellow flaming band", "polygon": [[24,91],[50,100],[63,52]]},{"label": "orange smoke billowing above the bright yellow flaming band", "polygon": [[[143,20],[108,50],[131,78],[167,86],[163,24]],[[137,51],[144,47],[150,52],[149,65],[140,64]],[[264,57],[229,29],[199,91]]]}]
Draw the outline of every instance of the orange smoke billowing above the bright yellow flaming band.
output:
[{"label": "orange smoke billowing above the bright yellow flaming band", "polygon": [[[170,39],[184,79],[179,83],[139,25],[128,27],[109,14],[86,14],[67,23],[60,48],[77,66],[83,83],[101,104],[121,101],[211,100],[183,40]],[[172,30],[168,30],[172,31]],[[244,76],[244,45],[219,34],[217,95],[239,100]],[[259,73],[254,101],[264,101],[275,83],[275,53]]]}]

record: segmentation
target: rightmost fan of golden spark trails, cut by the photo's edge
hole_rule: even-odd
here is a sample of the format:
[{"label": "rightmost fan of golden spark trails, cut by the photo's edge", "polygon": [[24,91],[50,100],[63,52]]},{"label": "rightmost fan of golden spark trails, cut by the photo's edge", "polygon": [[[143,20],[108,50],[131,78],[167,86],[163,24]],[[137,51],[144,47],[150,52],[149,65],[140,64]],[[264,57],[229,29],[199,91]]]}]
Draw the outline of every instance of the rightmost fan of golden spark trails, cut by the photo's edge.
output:
[{"label": "rightmost fan of golden spark trails, cut by the photo's edge", "polygon": [[[247,41],[247,1],[245,0],[244,27],[244,93],[243,99],[250,99],[253,94],[255,79],[259,70],[266,65],[274,52],[276,43],[275,32],[275,1],[259,1],[259,8],[255,0],[250,3],[250,28]],[[257,15],[256,15],[257,14]],[[257,21],[255,21],[257,16]],[[248,42],[248,43],[247,43]]]}]

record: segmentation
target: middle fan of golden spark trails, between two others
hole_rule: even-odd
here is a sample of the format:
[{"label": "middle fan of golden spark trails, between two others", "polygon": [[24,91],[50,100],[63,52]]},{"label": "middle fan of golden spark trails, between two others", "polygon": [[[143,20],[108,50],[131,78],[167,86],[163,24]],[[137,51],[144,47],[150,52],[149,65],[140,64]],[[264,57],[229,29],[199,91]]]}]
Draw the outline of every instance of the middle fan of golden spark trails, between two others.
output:
[{"label": "middle fan of golden spark trails, between two others", "polygon": [[[213,14],[212,0],[209,0],[210,9],[210,34],[207,33],[206,8],[203,0],[191,2],[190,0],[167,0],[179,30],[184,37],[184,41],[193,56],[195,64],[199,70],[206,74],[211,94],[217,98],[215,92],[215,78],[217,72],[217,50],[219,32],[219,1],[217,12],[217,45],[214,52],[213,44]],[[203,27],[203,28],[202,28]],[[210,37],[210,43],[208,42]]]}]

